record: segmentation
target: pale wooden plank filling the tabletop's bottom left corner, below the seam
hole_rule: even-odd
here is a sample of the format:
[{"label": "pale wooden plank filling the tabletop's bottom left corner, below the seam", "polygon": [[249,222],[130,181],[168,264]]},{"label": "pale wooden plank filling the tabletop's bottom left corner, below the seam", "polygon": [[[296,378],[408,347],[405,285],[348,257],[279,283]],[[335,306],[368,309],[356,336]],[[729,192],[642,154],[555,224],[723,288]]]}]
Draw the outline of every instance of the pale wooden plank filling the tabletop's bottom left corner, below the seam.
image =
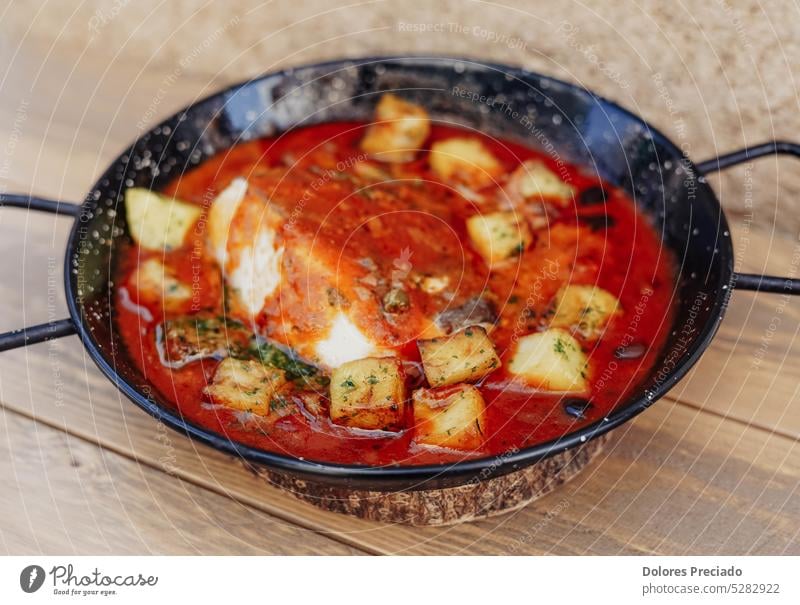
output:
[{"label": "pale wooden plank filling the tabletop's bottom left corner, below the seam", "polygon": [[6,410],[4,554],[359,554]]}]

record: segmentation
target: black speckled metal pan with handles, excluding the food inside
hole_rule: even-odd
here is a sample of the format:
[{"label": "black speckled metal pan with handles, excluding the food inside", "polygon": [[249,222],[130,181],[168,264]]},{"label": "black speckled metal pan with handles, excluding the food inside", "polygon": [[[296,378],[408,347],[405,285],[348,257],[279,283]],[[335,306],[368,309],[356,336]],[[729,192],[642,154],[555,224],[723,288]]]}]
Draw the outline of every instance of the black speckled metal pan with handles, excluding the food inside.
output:
[{"label": "black speckled metal pan with handles, excluding the food inside", "polygon": [[[543,147],[622,187],[648,214],[679,260],[673,333],[650,377],[607,418],[562,438],[506,456],[456,464],[368,467],[301,460],[246,447],[184,420],[148,388],[127,358],[112,317],[113,268],[128,238],[128,187],[159,188],[230,146],[286,129],[371,117],[376,96],[402,94],[434,118]],[[800,280],[738,274],[725,214],[705,175],[771,154],[800,156],[800,146],[770,142],[693,163],[638,116],[583,88],[518,68],[444,57],[340,60],[267,74],[199,101],[126,149],[80,205],[27,195],[0,204],[68,215],[74,226],[64,258],[69,318],[0,335],[0,350],[77,333],[102,372],[131,401],[166,425],[249,463],[296,478],[365,490],[443,488],[500,476],[580,446],[653,404],[703,354],[731,291],[800,293]]]}]

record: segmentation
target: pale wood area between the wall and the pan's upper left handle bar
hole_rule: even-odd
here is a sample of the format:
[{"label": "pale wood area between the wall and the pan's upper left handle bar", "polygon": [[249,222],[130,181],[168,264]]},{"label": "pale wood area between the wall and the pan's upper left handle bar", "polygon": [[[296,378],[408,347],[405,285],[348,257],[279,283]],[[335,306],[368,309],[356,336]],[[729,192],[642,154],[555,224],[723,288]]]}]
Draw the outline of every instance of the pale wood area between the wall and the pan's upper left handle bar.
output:
[{"label": "pale wood area between the wall and the pan's upper left handle bar", "polygon": [[[10,55],[14,54],[12,57]],[[228,84],[180,66],[153,70],[119,57],[0,48],[2,178],[80,200],[108,162],[183,106]]]}]

